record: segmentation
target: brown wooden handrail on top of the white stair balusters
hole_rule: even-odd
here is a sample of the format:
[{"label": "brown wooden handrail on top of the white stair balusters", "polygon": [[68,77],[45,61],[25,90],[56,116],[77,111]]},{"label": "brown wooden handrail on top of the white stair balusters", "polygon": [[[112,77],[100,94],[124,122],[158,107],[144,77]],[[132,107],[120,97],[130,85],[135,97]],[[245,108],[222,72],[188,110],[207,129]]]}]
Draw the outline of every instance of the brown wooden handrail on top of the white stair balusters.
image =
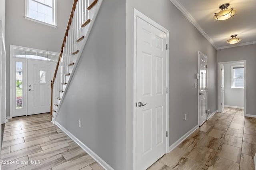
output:
[{"label": "brown wooden handrail on top of the white stair balusters", "polygon": [[[65,42],[66,42],[66,37],[68,36],[68,31],[69,31],[69,28],[70,28],[70,24],[72,22],[72,18],[74,16],[74,10],[76,10],[76,3],[77,3],[78,0],[74,0],[74,3],[73,3],[73,6],[72,6],[72,10],[71,10],[71,13],[70,13],[70,17],[69,17],[69,20],[68,20],[68,26],[67,26],[67,29],[66,29],[66,32],[65,32],[65,36],[64,36],[64,40],[62,42],[62,46],[61,46],[61,50],[60,50],[60,56],[58,58],[58,62],[57,62],[57,65],[56,65],[56,68],[55,68],[55,71],[54,71],[54,76],[53,76],[53,79],[52,79],[52,83],[51,83],[51,96],[53,97],[53,84],[54,84],[54,80],[55,80],[55,77],[56,77],[56,74],[57,74],[57,70],[58,70],[58,66],[60,65],[60,59],[62,57],[62,52],[63,52],[63,48],[65,46]],[[52,117],[52,99],[51,99],[51,107],[50,107],[50,114],[51,114],[51,117]]]}]

